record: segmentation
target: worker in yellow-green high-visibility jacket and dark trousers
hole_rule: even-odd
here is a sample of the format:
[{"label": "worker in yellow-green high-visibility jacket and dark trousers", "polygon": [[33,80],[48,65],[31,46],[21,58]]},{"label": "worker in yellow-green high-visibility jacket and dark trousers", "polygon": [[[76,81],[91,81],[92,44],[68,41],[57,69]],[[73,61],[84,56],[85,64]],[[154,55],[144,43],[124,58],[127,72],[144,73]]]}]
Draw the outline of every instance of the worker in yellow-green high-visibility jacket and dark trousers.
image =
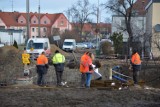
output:
[{"label": "worker in yellow-green high-visibility jacket and dark trousers", "polygon": [[65,63],[65,57],[62,55],[58,50],[55,51],[55,55],[52,58],[53,65],[55,67],[56,71],[56,77],[57,77],[57,86],[63,86],[62,82],[62,74],[64,71],[64,63]]}]

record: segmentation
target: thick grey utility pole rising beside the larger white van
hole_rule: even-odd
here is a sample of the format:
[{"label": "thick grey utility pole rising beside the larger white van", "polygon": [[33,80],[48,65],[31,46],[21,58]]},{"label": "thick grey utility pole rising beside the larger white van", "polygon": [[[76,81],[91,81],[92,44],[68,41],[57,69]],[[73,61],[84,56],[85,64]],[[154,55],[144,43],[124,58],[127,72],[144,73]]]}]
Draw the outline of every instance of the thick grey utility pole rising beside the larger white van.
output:
[{"label": "thick grey utility pole rising beside the larger white van", "polygon": [[30,37],[30,22],[29,22],[29,19],[30,19],[30,15],[29,15],[29,0],[26,0],[26,12],[27,12],[27,35],[25,37],[25,42],[27,43],[29,37]]}]

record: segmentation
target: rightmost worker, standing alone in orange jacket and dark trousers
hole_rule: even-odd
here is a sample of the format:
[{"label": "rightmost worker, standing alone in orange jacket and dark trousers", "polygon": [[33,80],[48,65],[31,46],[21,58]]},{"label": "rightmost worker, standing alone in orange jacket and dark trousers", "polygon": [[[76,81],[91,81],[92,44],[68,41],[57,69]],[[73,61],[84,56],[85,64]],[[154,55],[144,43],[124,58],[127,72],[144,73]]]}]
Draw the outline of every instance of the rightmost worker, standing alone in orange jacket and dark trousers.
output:
[{"label": "rightmost worker, standing alone in orange jacket and dark trousers", "polygon": [[133,69],[133,81],[134,81],[134,84],[136,85],[138,84],[139,72],[141,70],[141,58],[137,50],[133,50],[133,54],[131,57],[131,64]]}]

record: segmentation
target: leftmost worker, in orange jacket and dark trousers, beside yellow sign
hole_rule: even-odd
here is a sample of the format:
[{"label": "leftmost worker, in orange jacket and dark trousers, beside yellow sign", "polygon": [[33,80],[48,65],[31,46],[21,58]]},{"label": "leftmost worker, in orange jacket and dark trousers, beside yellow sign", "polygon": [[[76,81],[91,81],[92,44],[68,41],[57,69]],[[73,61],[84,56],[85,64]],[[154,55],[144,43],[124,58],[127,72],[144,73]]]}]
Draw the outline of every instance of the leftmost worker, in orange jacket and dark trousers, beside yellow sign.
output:
[{"label": "leftmost worker, in orange jacket and dark trousers, beside yellow sign", "polygon": [[40,86],[45,85],[44,82],[44,75],[47,73],[48,66],[48,59],[45,56],[45,52],[42,52],[41,55],[37,58],[37,73],[38,73],[38,80],[37,84]]}]

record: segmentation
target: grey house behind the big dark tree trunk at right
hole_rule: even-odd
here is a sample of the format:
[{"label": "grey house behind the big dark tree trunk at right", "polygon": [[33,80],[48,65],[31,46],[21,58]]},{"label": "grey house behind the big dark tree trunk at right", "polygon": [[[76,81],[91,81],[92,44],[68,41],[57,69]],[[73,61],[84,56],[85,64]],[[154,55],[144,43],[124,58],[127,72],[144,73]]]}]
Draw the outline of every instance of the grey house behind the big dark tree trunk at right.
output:
[{"label": "grey house behind the big dark tree trunk at right", "polygon": [[[131,17],[131,25],[133,30],[133,41],[139,40],[138,36],[143,35],[146,26],[145,6],[148,0],[137,0],[133,4],[133,13]],[[121,32],[123,34],[123,41],[128,41],[128,33],[126,31],[125,18],[122,15],[112,16],[112,34],[114,32]]]}]

